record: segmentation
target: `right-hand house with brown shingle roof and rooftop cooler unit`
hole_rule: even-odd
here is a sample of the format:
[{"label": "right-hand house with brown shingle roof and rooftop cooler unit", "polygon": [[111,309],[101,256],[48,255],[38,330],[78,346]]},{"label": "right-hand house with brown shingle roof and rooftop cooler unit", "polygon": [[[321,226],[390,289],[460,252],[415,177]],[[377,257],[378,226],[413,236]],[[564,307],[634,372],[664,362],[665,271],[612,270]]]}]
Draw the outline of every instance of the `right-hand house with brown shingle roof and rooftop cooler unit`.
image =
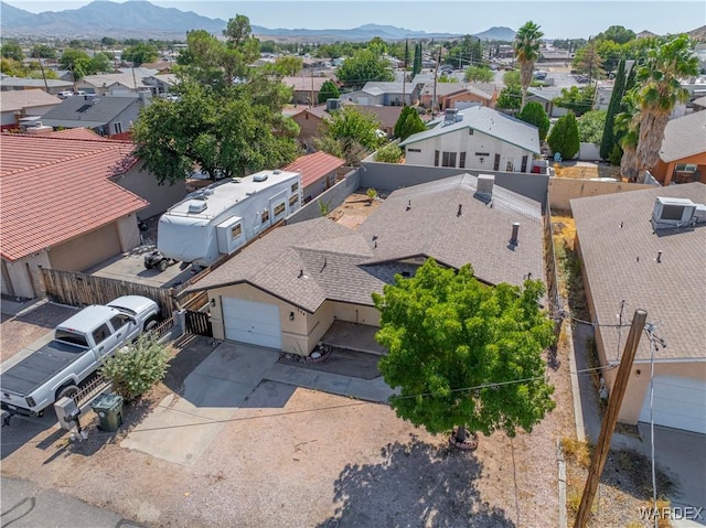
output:
[{"label": "right-hand house with brown shingle roof and rooftop cooler unit", "polygon": [[[584,287],[612,389],[637,309],[666,346],[642,334],[618,419],[706,433],[706,185],[687,183],[571,200]],[[620,326],[620,324],[623,326]],[[652,354],[654,353],[654,354]]]}]

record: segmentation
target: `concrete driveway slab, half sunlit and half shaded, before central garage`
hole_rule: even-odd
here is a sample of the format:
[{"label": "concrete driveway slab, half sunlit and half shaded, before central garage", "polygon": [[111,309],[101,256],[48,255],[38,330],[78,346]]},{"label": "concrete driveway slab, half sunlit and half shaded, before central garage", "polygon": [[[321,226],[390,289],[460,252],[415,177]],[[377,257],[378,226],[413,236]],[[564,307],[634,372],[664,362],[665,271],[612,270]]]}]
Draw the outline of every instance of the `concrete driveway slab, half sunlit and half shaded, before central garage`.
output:
[{"label": "concrete driveway slab, half sunlit and half shaded, before central garage", "polygon": [[164,398],[120,445],[192,465],[278,358],[270,349],[221,344],[186,377],[181,395]]}]

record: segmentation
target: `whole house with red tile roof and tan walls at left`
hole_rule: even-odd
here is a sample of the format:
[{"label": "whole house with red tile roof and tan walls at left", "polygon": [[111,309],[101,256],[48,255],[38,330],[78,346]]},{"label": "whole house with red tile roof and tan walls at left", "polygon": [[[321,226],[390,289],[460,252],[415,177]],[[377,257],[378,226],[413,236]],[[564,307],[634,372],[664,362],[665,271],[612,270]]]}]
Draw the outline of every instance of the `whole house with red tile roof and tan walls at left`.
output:
[{"label": "whole house with red tile roof and tan walls at left", "polygon": [[40,266],[82,271],[129,251],[138,219],[184,196],[141,172],[133,149],[88,130],[0,134],[3,294],[41,295]]}]

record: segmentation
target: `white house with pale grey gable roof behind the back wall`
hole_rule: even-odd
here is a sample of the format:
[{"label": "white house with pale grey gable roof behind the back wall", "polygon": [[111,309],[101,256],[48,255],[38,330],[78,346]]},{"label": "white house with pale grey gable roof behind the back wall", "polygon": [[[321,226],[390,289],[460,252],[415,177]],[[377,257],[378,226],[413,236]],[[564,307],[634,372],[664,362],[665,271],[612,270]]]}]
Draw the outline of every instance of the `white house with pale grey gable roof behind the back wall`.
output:
[{"label": "white house with pale grey gable roof behind the back wall", "polygon": [[539,153],[539,132],[492,108],[473,106],[447,109],[442,119],[399,146],[410,165],[531,173],[533,155]]}]

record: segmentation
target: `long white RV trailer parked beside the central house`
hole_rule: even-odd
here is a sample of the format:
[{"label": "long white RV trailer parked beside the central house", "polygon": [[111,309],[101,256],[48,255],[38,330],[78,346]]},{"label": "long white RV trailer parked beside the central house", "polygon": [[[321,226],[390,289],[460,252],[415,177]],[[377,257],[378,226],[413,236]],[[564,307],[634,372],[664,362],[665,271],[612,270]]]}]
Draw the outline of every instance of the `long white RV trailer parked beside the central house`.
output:
[{"label": "long white RV trailer parked beside the central house", "polygon": [[169,259],[207,267],[301,207],[298,172],[261,171],[189,194],[160,219],[157,248]]}]

